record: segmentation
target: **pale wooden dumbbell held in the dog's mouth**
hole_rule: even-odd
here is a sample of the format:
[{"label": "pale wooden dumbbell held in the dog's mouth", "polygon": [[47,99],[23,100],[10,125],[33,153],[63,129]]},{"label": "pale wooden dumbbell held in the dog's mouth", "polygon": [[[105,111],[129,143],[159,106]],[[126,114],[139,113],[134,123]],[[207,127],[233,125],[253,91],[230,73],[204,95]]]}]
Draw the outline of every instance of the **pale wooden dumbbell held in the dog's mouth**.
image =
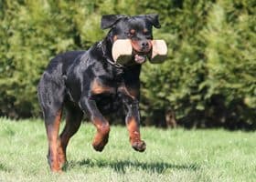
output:
[{"label": "pale wooden dumbbell held in the dog's mouth", "polygon": [[[151,63],[163,63],[167,56],[167,45],[164,40],[152,40],[152,50],[147,55]],[[112,58],[121,65],[133,58],[133,46],[129,39],[118,39],[112,45]]]}]

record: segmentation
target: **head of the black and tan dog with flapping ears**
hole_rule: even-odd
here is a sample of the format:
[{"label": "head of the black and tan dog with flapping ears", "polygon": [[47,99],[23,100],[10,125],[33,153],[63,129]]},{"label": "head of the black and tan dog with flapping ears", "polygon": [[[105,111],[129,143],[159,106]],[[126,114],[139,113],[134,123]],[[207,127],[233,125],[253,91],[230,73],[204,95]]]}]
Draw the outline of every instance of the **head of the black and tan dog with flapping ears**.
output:
[{"label": "head of the black and tan dog with flapping ears", "polygon": [[111,28],[108,38],[112,44],[118,39],[130,39],[133,46],[134,61],[144,63],[152,49],[152,27],[160,28],[158,15],[103,15],[101,28]]}]

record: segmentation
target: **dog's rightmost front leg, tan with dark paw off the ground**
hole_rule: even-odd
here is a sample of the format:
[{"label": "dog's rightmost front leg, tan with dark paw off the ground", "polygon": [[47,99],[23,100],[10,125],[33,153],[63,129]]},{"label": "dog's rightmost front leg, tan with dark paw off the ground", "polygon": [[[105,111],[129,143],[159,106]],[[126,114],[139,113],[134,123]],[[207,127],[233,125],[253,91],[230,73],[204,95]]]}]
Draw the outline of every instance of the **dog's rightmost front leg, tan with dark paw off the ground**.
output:
[{"label": "dog's rightmost front leg, tan with dark paw off the ground", "polygon": [[140,134],[139,102],[134,99],[131,103],[124,102],[124,104],[128,108],[125,122],[129,131],[131,145],[136,151],[144,152],[146,145],[141,140]]}]

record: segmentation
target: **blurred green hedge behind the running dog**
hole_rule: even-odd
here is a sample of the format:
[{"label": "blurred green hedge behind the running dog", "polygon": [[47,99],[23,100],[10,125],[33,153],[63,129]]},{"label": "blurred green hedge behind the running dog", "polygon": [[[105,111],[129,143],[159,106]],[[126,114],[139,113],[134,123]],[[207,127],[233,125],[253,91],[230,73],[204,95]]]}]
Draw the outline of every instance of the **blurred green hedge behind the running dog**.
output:
[{"label": "blurred green hedge behind the running dog", "polygon": [[168,58],[144,65],[143,124],[256,128],[255,12],[255,0],[0,0],[0,116],[40,116],[50,58],[101,40],[101,15],[156,13]]}]

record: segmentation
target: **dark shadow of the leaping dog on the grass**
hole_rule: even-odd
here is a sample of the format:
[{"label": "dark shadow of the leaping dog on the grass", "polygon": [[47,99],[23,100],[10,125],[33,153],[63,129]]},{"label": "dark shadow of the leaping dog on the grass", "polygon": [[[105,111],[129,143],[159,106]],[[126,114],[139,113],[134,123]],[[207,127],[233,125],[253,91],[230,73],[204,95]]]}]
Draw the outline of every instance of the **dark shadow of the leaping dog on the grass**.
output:
[{"label": "dark shadow of the leaping dog on the grass", "polygon": [[165,162],[139,162],[130,160],[116,160],[116,161],[106,161],[106,160],[93,160],[93,159],[83,159],[81,161],[75,162],[70,161],[67,168],[72,166],[79,167],[111,167],[118,173],[126,173],[126,170],[130,168],[142,169],[145,171],[151,171],[155,173],[163,173],[167,169],[177,169],[177,170],[190,170],[196,171],[199,169],[197,164],[187,164],[187,165],[175,165]]}]

